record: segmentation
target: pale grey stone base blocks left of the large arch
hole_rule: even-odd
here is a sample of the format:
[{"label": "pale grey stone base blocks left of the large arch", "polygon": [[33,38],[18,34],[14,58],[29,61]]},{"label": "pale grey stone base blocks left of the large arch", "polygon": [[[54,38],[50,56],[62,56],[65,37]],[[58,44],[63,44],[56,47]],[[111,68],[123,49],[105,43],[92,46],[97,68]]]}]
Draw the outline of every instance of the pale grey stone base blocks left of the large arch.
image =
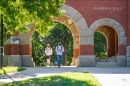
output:
[{"label": "pale grey stone base blocks left of the large arch", "polygon": [[34,67],[35,62],[30,55],[5,55],[3,66]]}]

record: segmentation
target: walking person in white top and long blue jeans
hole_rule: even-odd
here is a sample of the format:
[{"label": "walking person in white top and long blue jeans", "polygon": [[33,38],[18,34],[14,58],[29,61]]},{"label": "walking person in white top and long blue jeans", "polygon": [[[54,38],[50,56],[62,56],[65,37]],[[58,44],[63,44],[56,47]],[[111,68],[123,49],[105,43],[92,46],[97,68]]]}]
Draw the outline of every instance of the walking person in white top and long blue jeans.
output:
[{"label": "walking person in white top and long blue jeans", "polygon": [[64,47],[62,46],[61,42],[58,43],[56,46],[56,53],[57,53],[57,60],[58,60],[58,67],[60,68],[60,60],[63,56]]}]

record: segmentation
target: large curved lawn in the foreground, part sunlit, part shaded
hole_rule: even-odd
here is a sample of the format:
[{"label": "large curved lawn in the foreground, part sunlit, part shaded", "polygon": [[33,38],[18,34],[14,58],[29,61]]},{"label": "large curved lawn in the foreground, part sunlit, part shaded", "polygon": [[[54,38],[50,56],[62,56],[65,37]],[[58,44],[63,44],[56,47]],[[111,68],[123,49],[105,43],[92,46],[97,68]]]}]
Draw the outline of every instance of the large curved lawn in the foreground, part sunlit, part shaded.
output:
[{"label": "large curved lawn in the foreground, part sunlit, part shaded", "polygon": [[101,86],[101,84],[91,73],[69,72],[7,83],[0,86]]}]

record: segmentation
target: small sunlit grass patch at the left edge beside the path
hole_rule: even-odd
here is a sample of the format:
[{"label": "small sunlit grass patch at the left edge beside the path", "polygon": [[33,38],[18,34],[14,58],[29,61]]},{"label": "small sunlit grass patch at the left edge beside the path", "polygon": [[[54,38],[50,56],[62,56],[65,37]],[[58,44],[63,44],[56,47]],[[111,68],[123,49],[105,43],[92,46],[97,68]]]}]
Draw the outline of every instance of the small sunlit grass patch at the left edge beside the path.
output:
[{"label": "small sunlit grass patch at the left edge beside the path", "polygon": [[23,67],[3,67],[3,69],[0,69],[0,75],[11,73],[11,72],[22,71],[22,70],[26,70],[26,68],[23,68]]}]

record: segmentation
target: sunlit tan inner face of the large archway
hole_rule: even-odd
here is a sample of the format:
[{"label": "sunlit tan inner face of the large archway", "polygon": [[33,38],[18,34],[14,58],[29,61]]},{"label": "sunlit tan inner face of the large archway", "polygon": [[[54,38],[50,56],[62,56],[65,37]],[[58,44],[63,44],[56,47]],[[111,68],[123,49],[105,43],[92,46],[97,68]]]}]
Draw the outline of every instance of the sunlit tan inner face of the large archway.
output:
[{"label": "sunlit tan inner face of the large archway", "polygon": [[[73,37],[73,58],[72,58],[72,62],[71,65],[72,66],[76,66],[77,65],[77,59],[79,56],[79,31],[78,28],[76,27],[74,21],[67,17],[66,15],[61,15],[55,19],[53,19],[54,22],[59,22],[63,25],[65,25],[66,27],[68,27],[68,29],[70,30],[70,32],[72,33],[72,37]],[[34,33],[35,28],[31,29],[30,32]],[[33,35],[33,34],[32,34]],[[32,47],[32,36],[30,36],[30,45],[31,45],[31,49]]]}]

